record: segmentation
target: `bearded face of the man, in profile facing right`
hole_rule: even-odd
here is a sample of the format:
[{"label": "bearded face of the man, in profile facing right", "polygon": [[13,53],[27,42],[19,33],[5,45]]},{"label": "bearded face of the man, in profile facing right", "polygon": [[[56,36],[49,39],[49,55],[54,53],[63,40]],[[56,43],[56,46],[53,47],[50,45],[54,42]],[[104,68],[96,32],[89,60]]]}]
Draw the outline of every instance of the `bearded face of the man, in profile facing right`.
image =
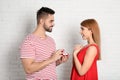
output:
[{"label": "bearded face of the man, in profile facing right", "polygon": [[45,31],[52,32],[52,28],[54,26],[54,15],[48,15],[48,17],[45,19],[43,28]]}]

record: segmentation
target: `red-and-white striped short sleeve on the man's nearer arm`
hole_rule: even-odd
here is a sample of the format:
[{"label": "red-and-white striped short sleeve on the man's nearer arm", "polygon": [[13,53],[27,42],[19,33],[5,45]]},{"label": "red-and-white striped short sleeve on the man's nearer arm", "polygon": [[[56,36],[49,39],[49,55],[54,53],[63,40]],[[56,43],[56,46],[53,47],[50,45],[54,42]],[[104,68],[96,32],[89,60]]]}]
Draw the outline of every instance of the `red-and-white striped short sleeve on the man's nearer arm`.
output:
[{"label": "red-and-white striped short sleeve on the man's nearer arm", "polygon": [[35,47],[29,39],[26,39],[20,47],[20,58],[35,59]]}]

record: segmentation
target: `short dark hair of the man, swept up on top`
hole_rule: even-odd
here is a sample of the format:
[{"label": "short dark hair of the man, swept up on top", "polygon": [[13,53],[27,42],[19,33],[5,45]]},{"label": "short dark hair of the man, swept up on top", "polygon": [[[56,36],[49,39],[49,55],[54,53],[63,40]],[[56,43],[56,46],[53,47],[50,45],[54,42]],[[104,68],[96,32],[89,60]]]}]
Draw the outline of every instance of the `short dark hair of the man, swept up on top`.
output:
[{"label": "short dark hair of the man, swept up on top", "polygon": [[39,24],[39,20],[41,18],[44,18],[44,17],[48,16],[48,14],[53,15],[53,14],[55,14],[55,11],[52,10],[52,9],[50,9],[50,8],[48,8],[48,7],[42,7],[42,8],[40,8],[37,11],[37,24]]}]

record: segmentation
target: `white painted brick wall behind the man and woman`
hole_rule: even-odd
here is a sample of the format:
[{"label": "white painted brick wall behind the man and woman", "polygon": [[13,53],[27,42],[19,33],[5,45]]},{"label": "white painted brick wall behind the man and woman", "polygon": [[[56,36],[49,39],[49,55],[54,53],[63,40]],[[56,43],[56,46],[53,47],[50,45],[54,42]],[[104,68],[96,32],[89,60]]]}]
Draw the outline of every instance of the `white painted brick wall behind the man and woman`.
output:
[{"label": "white painted brick wall behind the man and woman", "polygon": [[99,80],[120,79],[120,0],[0,0],[0,80],[25,80],[19,45],[34,30],[36,11],[42,6],[56,11],[55,27],[49,35],[57,49],[70,53],[68,62],[57,67],[58,80],[70,79],[72,49],[76,43],[85,43],[79,24],[86,18],[95,18],[101,29]]}]

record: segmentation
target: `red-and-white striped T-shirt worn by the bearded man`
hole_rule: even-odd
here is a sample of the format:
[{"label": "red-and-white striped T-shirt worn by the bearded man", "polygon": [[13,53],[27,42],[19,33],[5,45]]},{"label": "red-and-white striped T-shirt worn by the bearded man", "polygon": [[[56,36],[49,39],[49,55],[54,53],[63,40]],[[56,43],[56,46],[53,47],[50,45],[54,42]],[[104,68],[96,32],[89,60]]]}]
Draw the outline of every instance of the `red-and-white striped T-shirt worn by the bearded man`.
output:
[{"label": "red-and-white striped T-shirt worn by the bearded man", "polygon": [[[35,59],[36,62],[41,62],[48,59],[56,50],[54,40],[47,36],[45,39],[34,34],[28,35],[20,48],[20,58]],[[27,80],[56,80],[56,63],[51,63],[44,69],[26,74]]]}]

